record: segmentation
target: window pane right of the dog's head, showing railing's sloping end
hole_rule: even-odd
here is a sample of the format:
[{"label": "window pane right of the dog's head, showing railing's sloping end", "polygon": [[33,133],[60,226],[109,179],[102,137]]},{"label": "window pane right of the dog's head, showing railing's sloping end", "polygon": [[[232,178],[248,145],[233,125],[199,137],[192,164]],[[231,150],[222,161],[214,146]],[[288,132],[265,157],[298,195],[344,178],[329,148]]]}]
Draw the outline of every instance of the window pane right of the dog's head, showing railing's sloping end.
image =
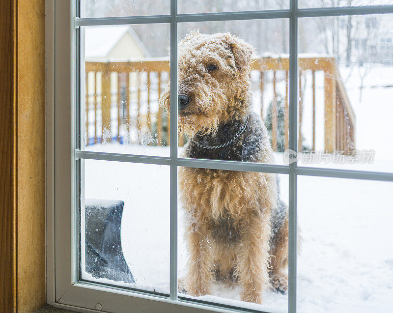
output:
[{"label": "window pane right of the dog's head, showing railing's sloping end", "polygon": [[393,171],[392,17],[299,20],[300,164]]}]

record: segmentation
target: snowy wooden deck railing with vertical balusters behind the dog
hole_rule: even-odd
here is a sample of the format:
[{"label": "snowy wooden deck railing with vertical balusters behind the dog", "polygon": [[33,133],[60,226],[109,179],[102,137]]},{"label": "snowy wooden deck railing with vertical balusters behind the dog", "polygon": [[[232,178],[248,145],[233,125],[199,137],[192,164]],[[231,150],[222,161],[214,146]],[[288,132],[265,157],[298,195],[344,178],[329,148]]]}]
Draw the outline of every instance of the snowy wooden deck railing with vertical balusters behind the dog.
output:
[{"label": "snowy wooden deck railing with vertical balusters behind the dog", "polygon": [[[130,132],[143,132],[152,135],[156,140],[149,144],[165,145],[170,138],[168,129],[169,119],[158,108],[157,101],[169,77],[168,59],[144,59],[137,61],[111,61],[85,63],[86,70],[86,103],[85,106],[85,144],[101,142],[103,134],[109,132],[107,140],[140,142],[137,137],[130,139]],[[266,76],[272,72],[272,146],[278,150],[278,104],[277,77],[279,72],[284,77],[284,148],[288,148],[289,132],[289,59],[288,57],[262,57],[253,62],[253,70],[259,72],[261,115],[264,112],[263,96],[266,90]],[[355,149],[355,115],[352,111],[345,87],[342,83],[336,59],[334,57],[299,57],[299,147],[302,151],[303,99],[307,91],[302,86],[302,78],[311,74],[312,85],[312,147],[315,150],[315,106],[316,78],[315,73],[324,73],[324,147],[325,151],[348,151]],[[133,79],[130,77],[133,75]],[[143,76],[143,79],[142,79]],[[254,76],[253,76],[254,77]],[[253,82],[254,84],[256,82]],[[144,93],[144,97],[142,97]],[[132,100],[133,95],[134,100]],[[131,108],[131,103],[133,108]],[[154,106],[153,106],[154,104]],[[144,106],[144,110],[141,108]],[[144,111],[144,112],[143,112]],[[116,118],[114,118],[114,116]],[[100,122],[101,121],[101,122]],[[134,122],[132,122],[134,121]],[[321,121],[322,122],[322,121]],[[101,124],[100,129],[98,125]],[[117,129],[111,127],[115,125]],[[91,129],[91,131],[90,131]],[[123,130],[122,130],[123,129]],[[122,134],[123,132],[123,134]],[[114,134],[114,136],[113,136]],[[183,145],[184,138],[179,138]]]}]

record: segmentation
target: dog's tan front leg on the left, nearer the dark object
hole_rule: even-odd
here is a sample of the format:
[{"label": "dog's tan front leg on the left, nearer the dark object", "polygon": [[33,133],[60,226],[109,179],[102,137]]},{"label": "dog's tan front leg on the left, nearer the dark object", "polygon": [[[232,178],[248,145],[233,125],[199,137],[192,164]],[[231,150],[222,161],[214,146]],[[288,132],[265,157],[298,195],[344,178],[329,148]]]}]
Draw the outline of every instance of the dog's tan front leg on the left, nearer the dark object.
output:
[{"label": "dog's tan front leg on the left, nearer the dark object", "polygon": [[206,233],[190,228],[188,233],[190,260],[186,291],[192,296],[209,294],[212,280],[211,253]]}]

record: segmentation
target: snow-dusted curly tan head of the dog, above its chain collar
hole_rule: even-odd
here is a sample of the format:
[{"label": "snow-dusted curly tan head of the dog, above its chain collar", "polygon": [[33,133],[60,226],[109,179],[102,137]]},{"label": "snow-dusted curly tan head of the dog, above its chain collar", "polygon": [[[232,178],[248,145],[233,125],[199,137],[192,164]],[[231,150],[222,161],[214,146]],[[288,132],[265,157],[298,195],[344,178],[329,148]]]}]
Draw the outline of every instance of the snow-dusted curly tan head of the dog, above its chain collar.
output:
[{"label": "snow-dusted curly tan head of the dog, above its chain collar", "polygon": [[[248,112],[253,47],[230,33],[191,32],[179,43],[179,129],[217,130]],[[169,112],[169,84],[160,104]]]}]

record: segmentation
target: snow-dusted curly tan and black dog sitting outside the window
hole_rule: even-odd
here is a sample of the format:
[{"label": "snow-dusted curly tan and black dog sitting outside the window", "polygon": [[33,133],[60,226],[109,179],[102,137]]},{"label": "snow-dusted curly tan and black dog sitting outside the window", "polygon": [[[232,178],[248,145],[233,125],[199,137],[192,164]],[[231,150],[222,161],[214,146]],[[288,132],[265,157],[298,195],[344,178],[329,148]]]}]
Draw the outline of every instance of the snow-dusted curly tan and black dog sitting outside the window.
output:
[{"label": "snow-dusted curly tan and black dog sitting outside the window", "polygon": [[[179,128],[188,158],[274,162],[261,118],[251,112],[253,47],[229,34],[191,32],[179,44]],[[160,99],[169,110],[169,88]],[[287,290],[288,215],[271,173],[179,169],[188,215],[185,290],[209,294],[212,280],[243,287],[261,303],[269,285]]]}]

